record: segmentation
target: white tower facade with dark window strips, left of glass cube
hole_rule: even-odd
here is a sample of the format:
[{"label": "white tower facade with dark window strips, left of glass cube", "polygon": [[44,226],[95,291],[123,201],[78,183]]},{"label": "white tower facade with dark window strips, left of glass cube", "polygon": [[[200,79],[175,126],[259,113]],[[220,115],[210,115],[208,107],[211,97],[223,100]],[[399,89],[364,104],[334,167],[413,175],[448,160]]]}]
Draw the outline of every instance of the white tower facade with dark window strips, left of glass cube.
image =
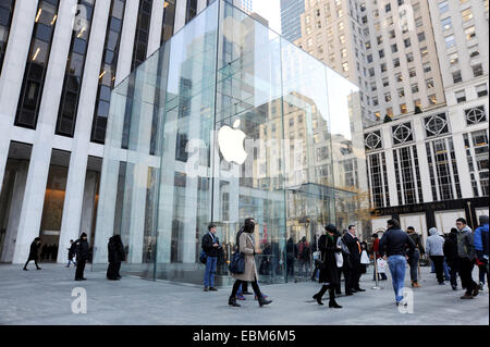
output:
[{"label": "white tower facade with dark window strips, left of glass cube", "polygon": [[0,4],[0,261],[93,243],[110,90],[209,0]]}]

